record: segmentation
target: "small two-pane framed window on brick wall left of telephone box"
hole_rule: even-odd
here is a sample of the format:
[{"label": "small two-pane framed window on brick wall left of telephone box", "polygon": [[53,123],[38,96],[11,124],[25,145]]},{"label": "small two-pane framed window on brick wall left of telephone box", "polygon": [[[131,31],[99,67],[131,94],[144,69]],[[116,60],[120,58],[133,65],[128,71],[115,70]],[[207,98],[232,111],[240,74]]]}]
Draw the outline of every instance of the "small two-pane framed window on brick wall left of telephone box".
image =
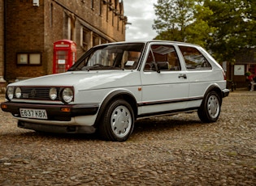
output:
[{"label": "small two-pane framed window on brick wall left of telephone box", "polygon": [[41,53],[17,53],[18,65],[41,65]]}]

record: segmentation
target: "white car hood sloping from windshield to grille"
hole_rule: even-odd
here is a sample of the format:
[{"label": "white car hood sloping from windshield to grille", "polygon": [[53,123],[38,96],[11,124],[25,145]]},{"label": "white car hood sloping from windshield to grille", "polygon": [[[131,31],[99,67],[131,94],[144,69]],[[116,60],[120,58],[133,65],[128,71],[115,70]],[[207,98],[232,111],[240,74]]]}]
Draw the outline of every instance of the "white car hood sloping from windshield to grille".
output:
[{"label": "white car hood sloping from windshield to grille", "polygon": [[[72,71],[31,78],[11,85],[17,87],[75,87],[77,91],[135,86],[139,83],[137,70]],[[113,83],[115,82],[115,83]]]}]

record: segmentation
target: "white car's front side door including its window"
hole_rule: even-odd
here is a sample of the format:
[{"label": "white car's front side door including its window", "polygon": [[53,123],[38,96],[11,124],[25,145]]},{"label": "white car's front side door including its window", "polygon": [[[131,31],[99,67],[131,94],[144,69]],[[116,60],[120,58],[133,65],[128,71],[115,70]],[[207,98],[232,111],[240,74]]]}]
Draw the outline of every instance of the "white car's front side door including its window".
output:
[{"label": "white car's front side door including its window", "polygon": [[141,70],[141,115],[184,109],[189,80],[174,46],[151,44]]}]

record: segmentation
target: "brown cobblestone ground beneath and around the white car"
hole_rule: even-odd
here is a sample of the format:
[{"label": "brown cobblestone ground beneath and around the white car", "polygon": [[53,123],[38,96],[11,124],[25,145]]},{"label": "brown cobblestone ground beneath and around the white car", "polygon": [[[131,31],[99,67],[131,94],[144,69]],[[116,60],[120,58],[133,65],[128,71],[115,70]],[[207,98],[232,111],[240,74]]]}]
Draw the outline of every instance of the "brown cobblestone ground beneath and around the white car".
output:
[{"label": "brown cobblestone ground beneath and around the white car", "polygon": [[[0,97],[3,100],[3,97]],[[0,112],[0,185],[255,185],[256,91],[197,113],[138,120],[127,142],[19,129]]]}]

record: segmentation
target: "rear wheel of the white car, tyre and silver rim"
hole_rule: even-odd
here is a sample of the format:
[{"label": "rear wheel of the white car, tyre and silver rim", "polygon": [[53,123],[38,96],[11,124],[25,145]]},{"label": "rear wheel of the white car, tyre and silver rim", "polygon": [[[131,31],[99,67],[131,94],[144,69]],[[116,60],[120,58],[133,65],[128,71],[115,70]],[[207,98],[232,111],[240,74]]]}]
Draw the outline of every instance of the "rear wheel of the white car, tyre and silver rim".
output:
[{"label": "rear wheel of the white car, tyre and silver rim", "polygon": [[215,91],[206,94],[205,99],[197,111],[197,115],[204,123],[215,122],[219,118],[221,99]]}]

